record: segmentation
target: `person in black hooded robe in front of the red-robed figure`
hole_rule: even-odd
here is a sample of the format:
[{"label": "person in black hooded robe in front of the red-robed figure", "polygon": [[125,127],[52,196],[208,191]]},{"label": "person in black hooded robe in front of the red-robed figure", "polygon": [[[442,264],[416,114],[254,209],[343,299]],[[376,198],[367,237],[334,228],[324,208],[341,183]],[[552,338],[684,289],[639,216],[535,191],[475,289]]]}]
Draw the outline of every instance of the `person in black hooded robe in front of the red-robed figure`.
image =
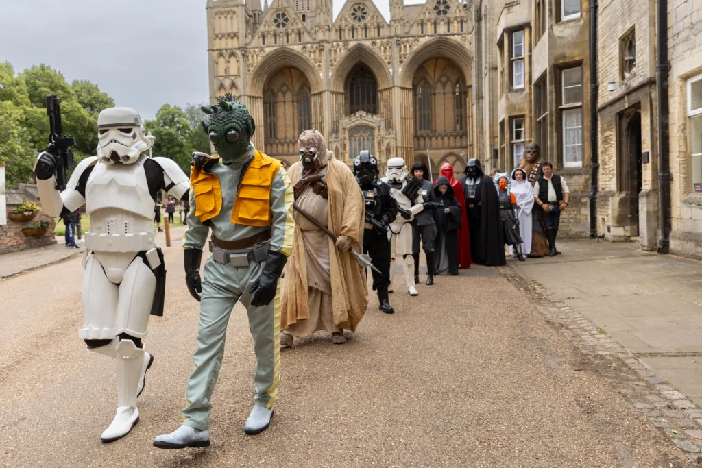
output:
[{"label": "person in black hooded robe in front of the red-robed figure", "polygon": [[[448,186],[445,194],[442,194],[439,189],[443,184]],[[461,227],[464,210],[453,194],[449,179],[443,175],[437,179],[434,194],[435,200],[444,206],[444,208],[432,212],[438,232],[435,246],[435,270],[439,275],[456,276],[458,275],[458,236],[456,236],[456,231]]]}]

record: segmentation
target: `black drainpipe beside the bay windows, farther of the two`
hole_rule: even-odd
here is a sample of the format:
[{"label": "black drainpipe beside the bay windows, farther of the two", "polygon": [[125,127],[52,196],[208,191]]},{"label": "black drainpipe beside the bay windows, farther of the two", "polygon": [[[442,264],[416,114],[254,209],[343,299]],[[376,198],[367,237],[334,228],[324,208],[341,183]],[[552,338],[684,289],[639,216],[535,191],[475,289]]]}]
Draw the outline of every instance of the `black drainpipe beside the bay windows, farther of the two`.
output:
[{"label": "black drainpipe beside the bay windows, farther of the two", "polygon": [[590,238],[597,237],[597,175],[600,169],[597,151],[597,0],[590,0]]}]

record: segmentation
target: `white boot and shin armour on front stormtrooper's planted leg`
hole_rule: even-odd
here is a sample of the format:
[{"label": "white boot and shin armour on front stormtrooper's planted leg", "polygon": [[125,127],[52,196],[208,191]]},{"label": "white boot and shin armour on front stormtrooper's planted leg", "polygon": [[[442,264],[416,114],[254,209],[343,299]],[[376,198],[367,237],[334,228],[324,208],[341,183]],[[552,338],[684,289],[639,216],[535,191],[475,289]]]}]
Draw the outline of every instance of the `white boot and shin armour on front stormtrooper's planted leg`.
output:
[{"label": "white boot and shin armour on front stormtrooper's planted leg", "polygon": [[145,363],[145,352],[132,340],[120,340],[117,345],[117,414],[100,439],[112,442],[129,434],[139,422],[136,408],[137,389]]}]

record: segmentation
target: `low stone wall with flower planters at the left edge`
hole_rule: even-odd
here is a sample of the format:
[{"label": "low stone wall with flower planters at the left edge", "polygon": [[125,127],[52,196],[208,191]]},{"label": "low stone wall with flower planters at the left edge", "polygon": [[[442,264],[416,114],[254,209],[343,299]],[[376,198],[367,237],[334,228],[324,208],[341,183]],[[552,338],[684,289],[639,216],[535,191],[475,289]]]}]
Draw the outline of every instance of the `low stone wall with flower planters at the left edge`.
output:
[{"label": "low stone wall with flower planters at the left edge", "polygon": [[[7,213],[22,204],[25,199],[37,202],[39,196],[37,194],[37,186],[29,184],[20,184],[18,190],[8,190],[7,197]],[[27,222],[17,222],[10,220],[8,217],[7,225],[0,226],[0,254],[19,252],[27,248],[43,247],[55,244],[53,229],[55,227],[54,218],[46,215],[44,211],[37,213],[32,221],[48,221],[49,227],[44,236],[27,237],[22,234],[22,227],[27,225]]]}]

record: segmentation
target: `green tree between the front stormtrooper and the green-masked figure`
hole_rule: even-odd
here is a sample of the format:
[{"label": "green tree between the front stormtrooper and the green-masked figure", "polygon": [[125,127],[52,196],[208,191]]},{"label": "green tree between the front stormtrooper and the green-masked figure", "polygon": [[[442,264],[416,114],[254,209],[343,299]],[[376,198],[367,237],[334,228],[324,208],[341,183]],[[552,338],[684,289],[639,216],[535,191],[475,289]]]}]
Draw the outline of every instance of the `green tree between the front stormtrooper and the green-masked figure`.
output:
[{"label": "green tree between the front stormtrooper and the green-masked figure", "polygon": [[183,109],[164,104],[156,113],[156,118],[147,120],[144,124],[147,131],[151,131],[156,137],[154,156],[171,158],[185,173],[190,173],[193,132]]}]

